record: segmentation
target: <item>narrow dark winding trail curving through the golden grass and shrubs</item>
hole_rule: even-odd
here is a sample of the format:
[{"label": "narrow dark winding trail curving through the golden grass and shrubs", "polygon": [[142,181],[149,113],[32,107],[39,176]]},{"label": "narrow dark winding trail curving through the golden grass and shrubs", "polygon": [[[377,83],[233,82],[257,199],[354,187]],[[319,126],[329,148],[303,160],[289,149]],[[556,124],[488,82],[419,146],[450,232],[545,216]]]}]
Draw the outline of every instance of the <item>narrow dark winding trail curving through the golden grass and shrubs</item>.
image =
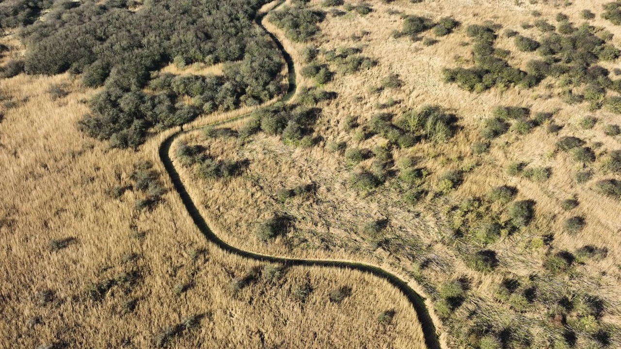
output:
[{"label": "narrow dark winding trail curving through the golden grass and shrubs", "polygon": [[[281,1],[281,3],[282,2],[283,1]],[[278,7],[279,6],[275,6],[274,9]],[[267,30],[263,26],[263,24],[261,24],[261,19],[263,19],[263,17],[265,17],[266,14],[267,13],[258,15],[256,17],[256,24],[259,27],[261,27],[261,29],[265,30],[265,32],[268,35],[270,35],[271,39],[274,41],[274,43],[276,44],[276,47],[278,47],[281,54],[283,55],[284,60],[287,63],[288,80],[289,80],[288,89],[287,89],[287,93],[284,94],[284,96],[279,100],[279,102],[287,102],[296,93],[296,71],[294,68],[294,63],[291,58],[291,55],[289,55],[289,53],[284,49],[283,44],[278,40],[276,35],[271,33],[269,30]],[[223,124],[224,122],[230,122],[232,120],[242,119],[243,117],[247,117],[249,114],[250,113],[244,114],[242,116],[232,117],[230,119],[224,120],[222,122],[217,122],[211,125]],[[357,262],[352,262],[352,261],[314,260],[314,259],[302,259],[302,258],[287,258],[284,256],[263,255],[261,253],[241,250],[240,248],[230,245],[229,243],[225,242],[220,237],[215,235],[215,233],[212,232],[211,229],[209,229],[209,225],[207,225],[207,222],[205,221],[205,219],[202,217],[202,215],[198,211],[196,204],[194,204],[194,201],[189,195],[186,189],[186,186],[183,184],[183,181],[181,181],[181,177],[179,176],[179,173],[176,170],[175,165],[173,165],[173,160],[171,159],[171,156],[170,156],[171,145],[173,144],[173,142],[175,142],[177,137],[183,134],[187,134],[188,132],[193,132],[202,127],[204,126],[191,127],[189,129],[183,129],[182,127],[181,130],[179,130],[178,132],[170,135],[169,137],[165,138],[165,140],[163,140],[163,142],[161,143],[158,149],[158,152],[159,152],[160,160],[163,163],[163,166],[166,170],[166,173],[168,173],[168,176],[170,177],[170,180],[173,183],[173,186],[176,192],[179,194],[181,201],[183,202],[184,206],[188,210],[188,214],[190,215],[190,217],[192,217],[192,219],[194,220],[194,224],[196,224],[197,228],[202,232],[202,234],[207,238],[207,240],[214,243],[215,245],[217,245],[217,247],[221,248],[222,250],[225,250],[226,252],[233,253],[235,255],[242,256],[244,258],[249,258],[249,259],[256,260],[256,261],[279,263],[284,266],[322,266],[322,267],[329,267],[329,268],[345,268],[345,269],[350,269],[350,270],[358,270],[358,271],[362,271],[365,273],[371,273],[375,276],[378,276],[379,278],[386,279],[393,286],[400,289],[403,292],[403,294],[407,297],[410,304],[412,304],[412,306],[414,307],[414,310],[416,311],[418,320],[422,327],[422,331],[424,333],[426,347],[428,349],[441,349],[442,348],[440,345],[440,341],[438,340],[438,333],[436,332],[435,325],[433,324],[433,320],[429,315],[427,307],[425,306],[424,298],[421,297],[417,292],[415,292],[414,289],[412,289],[407,284],[406,281],[404,281],[403,279],[399,278],[398,276],[392,273],[389,273],[386,270],[383,270],[382,268],[379,268],[378,266],[368,265],[365,263],[357,263]]]}]

